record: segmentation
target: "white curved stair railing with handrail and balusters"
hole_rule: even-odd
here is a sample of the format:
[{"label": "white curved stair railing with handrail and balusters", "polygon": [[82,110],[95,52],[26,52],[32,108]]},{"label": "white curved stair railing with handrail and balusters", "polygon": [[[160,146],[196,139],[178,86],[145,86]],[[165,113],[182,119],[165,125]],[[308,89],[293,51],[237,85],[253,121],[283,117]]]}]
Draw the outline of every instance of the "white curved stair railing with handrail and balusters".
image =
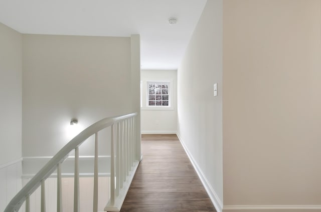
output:
[{"label": "white curved stair railing with handrail and balusters", "polygon": [[74,212],[80,210],[79,202],[79,146],[95,134],[93,211],[98,211],[98,131],[111,126],[110,199],[105,211],[119,211],[139,161],[136,160],[135,116],[130,113],[104,118],[90,125],[71,139],[47,164],[17,193],[4,212],[15,212],[26,201],[30,212],[30,195],[41,186],[41,212],[46,211],[45,180],[57,169],[57,212],[62,211],[61,164],[69,153],[75,151]]}]

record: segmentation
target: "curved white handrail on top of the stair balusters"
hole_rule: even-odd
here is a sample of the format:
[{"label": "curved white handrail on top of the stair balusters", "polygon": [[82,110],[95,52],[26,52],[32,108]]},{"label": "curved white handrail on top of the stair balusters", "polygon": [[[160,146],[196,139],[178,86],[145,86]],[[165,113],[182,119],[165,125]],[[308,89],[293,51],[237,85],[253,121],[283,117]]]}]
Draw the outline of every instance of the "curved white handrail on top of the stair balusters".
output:
[{"label": "curved white handrail on top of the stair balusters", "polygon": [[[4,212],[15,212],[18,211],[21,205],[27,198],[27,204],[29,206],[29,196],[41,185],[44,186],[44,180],[47,179],[52,172],[58,167],[59,163],[62,163],[68,154],[77,149],[78,146],[83,143],[88,137],[95,134],[96,132],[104,129],[108,126],[118,123],[122,120],[126,120],[130,117],[137,115],[137,113],[129,113],[126,115],[107,117],[97,121],[96,123],[88,126],[73,139],[71,139],[58,153],[53,156],[48,163],[38,172],[36,175],[17,193],[17,195],[9,202]],[[111,141],[113,142],[113,140]],[[76,160],[76,158],[75,158]],[[60,170],[59,170],[60,172]],[[75,176],[76,177],[76,176]],[[43,188],[44,190],[44,188]],[[79,195],[79,193],[78,193]],[[59,201],[59,200],[58,200]],[[79,203],[79,202],[77,202]],[[59,202],[61,204],[61,202]]]}]

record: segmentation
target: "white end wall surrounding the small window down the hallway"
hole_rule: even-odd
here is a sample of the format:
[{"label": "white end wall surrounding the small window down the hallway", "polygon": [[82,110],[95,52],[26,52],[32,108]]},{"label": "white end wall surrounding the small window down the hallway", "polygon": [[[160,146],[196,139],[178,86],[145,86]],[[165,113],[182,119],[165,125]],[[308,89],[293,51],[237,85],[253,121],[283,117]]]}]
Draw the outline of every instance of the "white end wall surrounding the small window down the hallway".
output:
[{"label": "white end wall surrounding the small window down the hallway", "polygon": [[[177,70],[141,70],[141,132],[177,132]],[[150,108],[147,105],[147,81],[171,81],[171,108]]]}]

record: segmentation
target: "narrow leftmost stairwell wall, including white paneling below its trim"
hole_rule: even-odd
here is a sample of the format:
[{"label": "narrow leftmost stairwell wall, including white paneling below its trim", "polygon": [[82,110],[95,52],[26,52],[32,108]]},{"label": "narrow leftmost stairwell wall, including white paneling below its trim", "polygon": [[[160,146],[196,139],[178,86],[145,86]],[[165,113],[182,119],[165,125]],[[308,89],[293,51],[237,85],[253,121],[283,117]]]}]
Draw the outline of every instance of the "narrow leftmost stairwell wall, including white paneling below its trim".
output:
[{"label": "narrow leftmost stairwell wall, including white paneling below its trim", "polygon": [[0,23],[0,211],[21,188],[22,35]]}]

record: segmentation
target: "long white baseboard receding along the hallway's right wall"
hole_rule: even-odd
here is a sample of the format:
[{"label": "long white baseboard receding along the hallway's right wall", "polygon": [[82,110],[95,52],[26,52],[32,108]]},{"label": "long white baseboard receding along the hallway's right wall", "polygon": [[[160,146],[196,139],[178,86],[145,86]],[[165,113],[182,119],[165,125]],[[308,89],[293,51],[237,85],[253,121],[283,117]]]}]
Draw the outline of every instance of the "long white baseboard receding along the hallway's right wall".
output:
[{"label": "long white baseboard receding along the hallway's right wall", "polygon": [[186,152],[186,154],[188,155],[188,157],[190,158],[191,163],[194,166],[194,169],[197,173],[197,175],[200,177],[202,184],[207,192],[207,194],[209,195],[211,201],[213,202],[215,209],[217,210],[217,212],[222,212],[223,210],[223,203],[221,201],[221,199],[219,198],[219,196],[217,195],[217,193],[215,192],[215,190],[213,189],[213,187],[211,186],[211,184],[209,183],[207,177],[204,175],[204,173],[202,172],[202,170],[200,169],[199,165],[197,164],[197,162],[195,161],[194,157],[192,156],[192,154],[189,152],[187,146],[184,144],[182,138],[180,137],[180,135],[177,133],[177,136]]}]

